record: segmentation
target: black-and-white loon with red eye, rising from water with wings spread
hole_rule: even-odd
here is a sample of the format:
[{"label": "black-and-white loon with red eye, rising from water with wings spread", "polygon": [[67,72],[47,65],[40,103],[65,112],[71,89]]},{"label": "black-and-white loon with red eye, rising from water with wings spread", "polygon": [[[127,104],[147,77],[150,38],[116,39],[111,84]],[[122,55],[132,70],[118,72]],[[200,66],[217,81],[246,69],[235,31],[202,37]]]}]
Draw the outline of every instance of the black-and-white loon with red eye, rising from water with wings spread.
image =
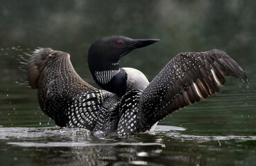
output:
[{"label": "black-and-white loon with red eye, rising from water with wings spread", "polygon": [[131,50],[158,39],[103,37],[88,51],[96,89],[75,72],[70,55],[51,48],[35,49],[26,66],[39,104],[60,127],[80,127],[95,136],[125,136],[152,129],[170,113],[218,93],[231,75],[244,81],[241,66],[221,50],[179,53],[149,83],[135,68],[120,68]]}]

